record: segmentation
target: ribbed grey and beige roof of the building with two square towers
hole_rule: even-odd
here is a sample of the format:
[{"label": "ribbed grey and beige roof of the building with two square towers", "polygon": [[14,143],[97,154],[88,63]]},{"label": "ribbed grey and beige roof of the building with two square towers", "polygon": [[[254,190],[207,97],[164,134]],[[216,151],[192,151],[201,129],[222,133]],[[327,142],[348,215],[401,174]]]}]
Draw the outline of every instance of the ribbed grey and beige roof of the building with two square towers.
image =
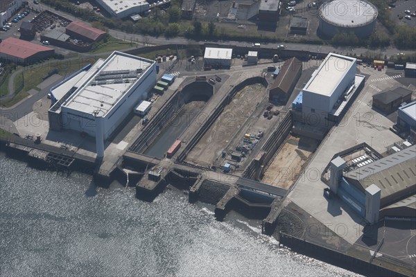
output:
[{"label": "ribbed grey and beige roof of the building with two square towers", "polygon": [[361,190],[375,184],[386,197],[416,184],[416,145],[345,174]]}]

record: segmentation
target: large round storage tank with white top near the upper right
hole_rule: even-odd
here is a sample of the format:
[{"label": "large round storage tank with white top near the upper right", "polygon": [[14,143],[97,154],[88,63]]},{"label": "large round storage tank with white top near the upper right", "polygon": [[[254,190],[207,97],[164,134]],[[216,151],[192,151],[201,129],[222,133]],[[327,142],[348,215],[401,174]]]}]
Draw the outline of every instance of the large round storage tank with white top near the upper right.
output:
[{"label": "large round storage tank with white top near the upper right", "polygon": [[377,8],[364,0],[328,1],[319,9],[318,32],[327,37],[350,32],[360,38],[370,37],[378,14]]}]

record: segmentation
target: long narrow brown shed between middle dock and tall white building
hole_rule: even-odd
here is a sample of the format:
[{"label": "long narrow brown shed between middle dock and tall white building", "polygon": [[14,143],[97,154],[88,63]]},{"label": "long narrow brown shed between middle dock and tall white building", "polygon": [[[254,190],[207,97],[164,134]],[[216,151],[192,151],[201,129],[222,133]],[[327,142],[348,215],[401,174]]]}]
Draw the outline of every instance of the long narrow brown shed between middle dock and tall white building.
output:
[{"label": "long narrow brown shed between middle dock and tall white building", "polygon": [[302,62],[292,57],[286,60],[277,73],[275,82],[269,90],[270,102],[284,102],[292,94],[293,89],[302,74]]}]

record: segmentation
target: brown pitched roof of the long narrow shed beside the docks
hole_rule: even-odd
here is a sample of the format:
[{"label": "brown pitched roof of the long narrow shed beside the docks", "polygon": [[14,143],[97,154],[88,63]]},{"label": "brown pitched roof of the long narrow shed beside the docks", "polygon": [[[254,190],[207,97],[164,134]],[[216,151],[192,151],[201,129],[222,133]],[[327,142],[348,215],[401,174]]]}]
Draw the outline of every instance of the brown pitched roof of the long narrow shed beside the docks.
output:
[{"label": "brown pitched roof of the long narrow shed beside the docks", "polygon": [[283,66],[281,66],[280,73],[277,75],[275,82],[270,87],[270,91],[280,88],[284,93],[289,93],[293,82],[297,82],[295,77],[298,71],[302,71],[302,62],[300,60],[297,60],[296,57],[286,60]]}]

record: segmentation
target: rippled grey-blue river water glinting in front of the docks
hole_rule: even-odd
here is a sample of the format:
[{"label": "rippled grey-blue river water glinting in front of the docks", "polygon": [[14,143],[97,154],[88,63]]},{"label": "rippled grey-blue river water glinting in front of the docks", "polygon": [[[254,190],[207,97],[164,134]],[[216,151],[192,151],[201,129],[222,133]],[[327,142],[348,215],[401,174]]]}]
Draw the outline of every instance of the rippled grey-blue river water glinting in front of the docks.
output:
[{"label": "rippled grey-blue river water glinting in front of the docks", "polygon": [[3,154],[0,165],[0,276],[354,276],[279,249],[259,222],[216,222],[213,206],[175,190],[146,203],[89,175]]}]

